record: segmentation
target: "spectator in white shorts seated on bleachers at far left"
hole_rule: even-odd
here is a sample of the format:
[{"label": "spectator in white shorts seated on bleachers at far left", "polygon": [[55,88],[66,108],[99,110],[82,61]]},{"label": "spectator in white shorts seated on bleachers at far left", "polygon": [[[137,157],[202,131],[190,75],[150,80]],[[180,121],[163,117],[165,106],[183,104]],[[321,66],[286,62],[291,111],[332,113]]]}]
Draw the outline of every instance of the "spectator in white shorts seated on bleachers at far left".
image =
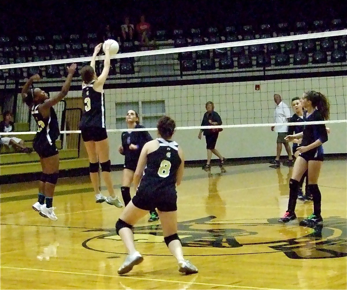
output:
[{"label": "spectator in white shorts seated on bleachers at far left", "polygon": [[[0,122],[0,132],[14,132],[15,124],[13,123],[13,115],[9,111],[5,111],[3,114],[3,121]],[[24,146],[24,141],[16,137],[1,137],[0,144],[7,145],[18,152],[31,153],[33,148]]]}]

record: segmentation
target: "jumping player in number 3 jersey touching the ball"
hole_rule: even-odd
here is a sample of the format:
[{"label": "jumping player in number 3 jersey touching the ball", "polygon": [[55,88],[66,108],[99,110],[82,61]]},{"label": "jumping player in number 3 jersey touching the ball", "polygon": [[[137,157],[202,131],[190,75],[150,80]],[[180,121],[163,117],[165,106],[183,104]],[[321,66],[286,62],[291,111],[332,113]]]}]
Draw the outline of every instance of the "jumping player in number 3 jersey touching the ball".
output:
[{"label": "jumping player in number 3 jersey touching the ball", "polygon": [[[104,68],[100,76],[95,73],[95,58],[100,51],[102,43],[96,45],[90,65],[84,66],[81,70],[82,76],[82,97],[84,111],[79,128],[81,129],[88,158],[90,179],[95,193],[95,202],[106,201],[110,205],[122,207],[122,203],[115,195],[110,173],[110,148],[105,126],[105,95],[103,85],[110,69],[110,44],[105,45]],[[110,194],[104,197],[99,191],[99,162],[102,177]]]}]

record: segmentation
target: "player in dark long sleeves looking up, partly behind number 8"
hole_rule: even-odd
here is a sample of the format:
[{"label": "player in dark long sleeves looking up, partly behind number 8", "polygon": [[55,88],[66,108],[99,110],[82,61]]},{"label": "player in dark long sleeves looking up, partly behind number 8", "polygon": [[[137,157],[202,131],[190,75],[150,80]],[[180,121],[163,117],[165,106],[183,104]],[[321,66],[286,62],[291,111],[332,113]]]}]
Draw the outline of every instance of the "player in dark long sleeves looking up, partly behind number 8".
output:
[{"label": "player in dark long sleeves looking up, partly behind number 8", "polygon": [[[134,110],[129,110],[126,116],[126,123],[128,129],[138,129],[144,128],[139,124],[138,114]],[[124,201],[124,206],[127,206],[131,200],[130,196],[130,185],[134,179],[134,173],[140,158],[140,153],[143,146],[152,141],[152,136],[148,131],[125,131],[121,135],[122,144],[118,151],[120,154],[124,155],[124,169],[122,177],[122,186],[120,188],[122,193],[122,198]],[[158,221],[158,213],[153,209],[150,211],[149,222]]]}]

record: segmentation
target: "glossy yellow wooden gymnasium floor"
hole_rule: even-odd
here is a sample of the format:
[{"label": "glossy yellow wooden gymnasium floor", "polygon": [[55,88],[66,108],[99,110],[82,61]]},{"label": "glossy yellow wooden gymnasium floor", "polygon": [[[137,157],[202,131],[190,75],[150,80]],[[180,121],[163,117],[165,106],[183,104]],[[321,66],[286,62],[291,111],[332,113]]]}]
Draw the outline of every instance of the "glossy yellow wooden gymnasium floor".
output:
[{"label": "glossy yellow wooden gymnasium floor", "polygon": [[[160,223],[135,227],[144,262],[117,269],[125,249],[115,233],[122,209],[95,204],[88,177],[61,179],[58,221],[32,208],[36,182],[1,185],[1,289],[346,289],[346,160],[325,161],[320,176],[324,225],[278,224],[291,168],[187,168],[178,188],[179,235],[199,273],[182,276]],[[115,188],[121,172],[114,172]],[[312,202],[297,202],[299,220]]]}]

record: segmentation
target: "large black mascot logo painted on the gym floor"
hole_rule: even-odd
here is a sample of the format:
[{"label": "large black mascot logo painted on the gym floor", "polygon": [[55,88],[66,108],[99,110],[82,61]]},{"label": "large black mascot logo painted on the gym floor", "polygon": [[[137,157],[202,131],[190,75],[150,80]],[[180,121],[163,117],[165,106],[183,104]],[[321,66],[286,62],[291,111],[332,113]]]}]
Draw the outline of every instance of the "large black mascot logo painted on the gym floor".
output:
[{"label": "large black mascot logo painted on the gym floor", "polygon": [[[251,220],[249,223],[216,221],[215,219],[215,216],[208,216],[178,223],[178,235],[186,256],[249,255],[278,251],[291,259],[347,256],[347,219],[345,218],[325,218],[324,225],[314,228],[283,225],[279,224],[277,219],[268,219],[266,222]],[[118,258],[117,254],[124,254],[124,247],[115,229],[85,232],[102,232],[102,234],[85,240],[82,243],[84,248],[109,253],[111,254],[109,258]],[[155,254],[158,252],[155,251],[158,243],[166,248],[160,225],[135,226],[134,237],[138,247],[141,247],[140,244],[143,245],[142,249],[139,248],[142,254],[170,255],[169,252],[162,255]],[[206,250],[199,254],[197,248]]]}]

